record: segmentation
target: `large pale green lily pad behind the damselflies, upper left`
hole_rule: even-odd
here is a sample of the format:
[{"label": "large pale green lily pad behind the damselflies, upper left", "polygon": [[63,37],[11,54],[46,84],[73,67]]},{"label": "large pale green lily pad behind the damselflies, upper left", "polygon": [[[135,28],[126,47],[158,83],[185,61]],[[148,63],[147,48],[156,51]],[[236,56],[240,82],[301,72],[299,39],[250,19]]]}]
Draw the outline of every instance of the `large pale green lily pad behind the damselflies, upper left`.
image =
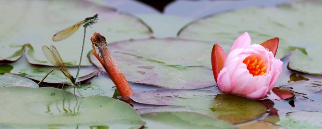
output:
[{"label": "large pale green lily pad behind the damselflies, upper left", "polygon": [[[151,29],[137,17],[119,13],[112,8],[88,1],[74,0],[62,3],[60,1],[37,0],[3,1],[2,3],[0,11],[7,13],[0,16],[0,19],[6,19],[1,21],[3,25],[0,32],[1,60],[17,59],[22,54],[22,44],[30,43],[33,49],[26,51],[28,61],[33,64],[51,66],[43,55],[41,47],[53,44],[57,47],[67,66],[78,66],[83,43],[83,27],[69,38],[59,42],[53,42],[52,36],[87,17],[93,17],[95,14],[99,14],[99,21],[87,28],[83,57],[92,49],[90,37],[94,32],[101,33],[109,42],[147,38],[152,33]],[[17,10],[12,11],[12,7],[16,7]],[[11,45],[8,46],[8,44]],[[29,50],[34,53],[28,52]],[[82,65],[90,66],[91,63],[89,60],[83,59]]]}]

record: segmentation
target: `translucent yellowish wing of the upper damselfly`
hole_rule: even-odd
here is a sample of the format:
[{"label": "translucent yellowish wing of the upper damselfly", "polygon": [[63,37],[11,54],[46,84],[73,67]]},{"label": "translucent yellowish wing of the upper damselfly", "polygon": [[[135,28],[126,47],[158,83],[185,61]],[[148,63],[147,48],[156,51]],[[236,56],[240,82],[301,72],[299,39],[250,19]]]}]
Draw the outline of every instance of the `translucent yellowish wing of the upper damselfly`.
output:
[{"label": "translucent yellowish wing of the upper damselfly", "polygon": [[57,32],[56,34],[54,34],[54,36],[52,36],[52,41],[57,42],[57,41],[61,41],[61,40],[68,38],[73,33],[75,33],[78,30],[78,28],[80,26],[82,26],[83,24],[85,24],[85,20],[77,22],[75,25],[72,25],[70,27],[67,27],[67,28]]}]

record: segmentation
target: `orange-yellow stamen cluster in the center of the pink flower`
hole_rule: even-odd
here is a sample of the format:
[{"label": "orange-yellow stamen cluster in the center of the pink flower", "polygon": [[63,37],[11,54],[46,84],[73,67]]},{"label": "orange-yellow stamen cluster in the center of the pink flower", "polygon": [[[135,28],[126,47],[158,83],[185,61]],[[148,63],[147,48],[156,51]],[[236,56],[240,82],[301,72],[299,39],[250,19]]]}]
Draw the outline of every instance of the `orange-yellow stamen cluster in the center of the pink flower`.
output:
[{"label": "orange-yellow stamen cluster in the center of the pink flower", "polygon": [[[267,63],[261,56],[250,55],[246,57],[243,63],[246,64],[248,71],[253,76],[266,75]],[[263,63],[264,62],[264,63]]]}]

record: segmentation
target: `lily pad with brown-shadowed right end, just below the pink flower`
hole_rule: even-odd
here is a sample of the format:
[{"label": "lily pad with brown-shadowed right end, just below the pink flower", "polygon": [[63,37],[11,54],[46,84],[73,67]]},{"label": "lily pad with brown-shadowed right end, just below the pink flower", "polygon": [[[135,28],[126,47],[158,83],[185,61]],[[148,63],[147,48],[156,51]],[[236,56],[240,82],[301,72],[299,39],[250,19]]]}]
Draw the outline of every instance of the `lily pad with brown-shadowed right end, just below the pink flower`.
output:
[{"label": "lily pad with brown-shadowed right end, just below the pink flower", "polygon": [[137,109],[141,113],[189,111],[230,123],[249,121],[267,111],[266,106],[258,101],[230,94],[216,94],[209,90],[162,89],[134,93],[131,99],[143,104],[176,106]]}]

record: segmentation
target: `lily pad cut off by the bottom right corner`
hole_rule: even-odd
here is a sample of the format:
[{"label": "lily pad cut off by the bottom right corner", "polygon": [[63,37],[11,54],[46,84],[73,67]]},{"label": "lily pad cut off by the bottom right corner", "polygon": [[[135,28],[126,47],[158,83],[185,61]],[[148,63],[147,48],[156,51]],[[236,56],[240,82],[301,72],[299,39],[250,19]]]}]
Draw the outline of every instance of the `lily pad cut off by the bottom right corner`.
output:
[{"label": "lily pad cut off by the bottom right corner", "polygon": [[322,112],[290,112],[276,124],[289,128],[322,128]]}]

